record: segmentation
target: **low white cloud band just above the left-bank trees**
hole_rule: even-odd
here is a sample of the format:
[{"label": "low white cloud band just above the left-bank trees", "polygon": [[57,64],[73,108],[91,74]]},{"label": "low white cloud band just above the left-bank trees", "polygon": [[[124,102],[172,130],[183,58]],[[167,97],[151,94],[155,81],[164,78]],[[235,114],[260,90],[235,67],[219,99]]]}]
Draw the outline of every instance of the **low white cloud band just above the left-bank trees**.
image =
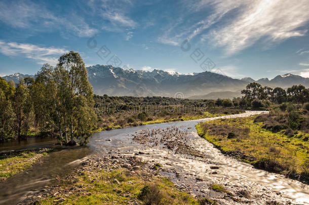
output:
[{"label": "low white cloud band just above the left-bank trees", "polygon": [[16,42],[6,43],[0,40],[0,53],[6,56],[23,55],[33,59],[38,64],[49,63],[55,65],[60,55],[67,53],[68,50],[54,47],[40,47],[32,44],[18,44]]}]

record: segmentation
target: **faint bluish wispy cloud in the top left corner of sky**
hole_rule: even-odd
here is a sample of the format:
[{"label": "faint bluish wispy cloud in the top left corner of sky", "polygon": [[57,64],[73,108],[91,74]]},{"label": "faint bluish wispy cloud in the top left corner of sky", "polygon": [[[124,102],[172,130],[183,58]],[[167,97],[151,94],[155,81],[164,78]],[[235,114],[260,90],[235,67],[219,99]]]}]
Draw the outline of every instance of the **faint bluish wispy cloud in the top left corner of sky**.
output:
[{"label": "faint bluish wispy cloud in the top left corner of sky", "polygon": [[44,4],[31,1],[1,1],[0,21],[14,28],[29,29],[31,32],[60,30],[79,37],[93,36],[98,30],[74,12],[64,16],[51,12]]}]

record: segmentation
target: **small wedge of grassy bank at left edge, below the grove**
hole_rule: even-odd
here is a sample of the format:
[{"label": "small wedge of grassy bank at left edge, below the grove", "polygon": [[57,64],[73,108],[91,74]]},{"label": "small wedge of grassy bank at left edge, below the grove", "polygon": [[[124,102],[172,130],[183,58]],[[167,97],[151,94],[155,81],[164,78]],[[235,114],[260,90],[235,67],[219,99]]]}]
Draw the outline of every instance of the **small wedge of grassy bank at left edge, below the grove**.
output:
[{"label": "small wedge of grassy bank at left edge, below the grove", "polygon": [[0,182],[30,168],[34,162],[49,151],[49,149],[27,150],[0,155]]}]

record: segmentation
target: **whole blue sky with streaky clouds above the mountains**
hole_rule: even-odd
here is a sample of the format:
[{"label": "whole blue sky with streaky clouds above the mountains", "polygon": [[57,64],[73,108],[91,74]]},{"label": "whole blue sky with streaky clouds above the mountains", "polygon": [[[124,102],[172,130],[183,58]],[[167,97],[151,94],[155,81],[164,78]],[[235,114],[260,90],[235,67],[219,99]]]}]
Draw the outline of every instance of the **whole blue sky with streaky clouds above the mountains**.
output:
[{"label": "whole blue sky with streaky clouds above the mountains", "polygon": [[309,77],[307,0],[0,1],[0,76],[86,66]]}]

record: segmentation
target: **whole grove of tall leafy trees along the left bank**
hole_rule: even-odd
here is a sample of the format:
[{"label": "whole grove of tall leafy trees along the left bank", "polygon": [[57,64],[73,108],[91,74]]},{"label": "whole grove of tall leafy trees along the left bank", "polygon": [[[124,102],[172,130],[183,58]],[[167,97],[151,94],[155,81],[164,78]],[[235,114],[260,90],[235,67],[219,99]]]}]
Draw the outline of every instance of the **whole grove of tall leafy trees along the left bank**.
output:
[{"label": "whole grove of tall leafy trees along the left bank", "polygon": [[0,141],[21,139],[30,129],[57,135],[67,144],[87,143],[96,126],[92,86],[79,53],[45,64],[35,79],[15,85],[0,78]]}]

